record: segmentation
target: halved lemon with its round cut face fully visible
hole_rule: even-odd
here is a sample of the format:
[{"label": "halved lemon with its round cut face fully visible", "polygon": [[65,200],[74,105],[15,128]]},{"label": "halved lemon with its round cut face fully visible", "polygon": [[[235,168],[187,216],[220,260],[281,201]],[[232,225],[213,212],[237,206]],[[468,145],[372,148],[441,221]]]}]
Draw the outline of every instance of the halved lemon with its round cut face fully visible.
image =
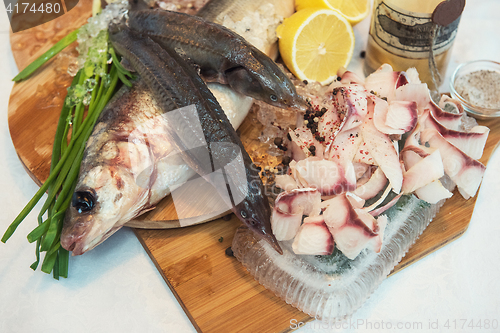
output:
[{"label": "halved lemon with its round cut face fully visible", "polygon": [[300,80],[331,83],[347,67],[354,50],[354,32],[336,10],[306,8],[276,29],[283,62]]}]

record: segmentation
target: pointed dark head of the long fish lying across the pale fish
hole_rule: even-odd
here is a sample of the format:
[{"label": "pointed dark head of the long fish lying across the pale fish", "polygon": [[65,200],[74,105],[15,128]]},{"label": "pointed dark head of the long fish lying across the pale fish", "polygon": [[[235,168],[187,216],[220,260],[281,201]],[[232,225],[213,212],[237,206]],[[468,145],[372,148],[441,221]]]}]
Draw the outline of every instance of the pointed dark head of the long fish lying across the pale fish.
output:
[{"label": "pointed dark head of the long fish lying across the pale fish", "polygon": [[[248,195],[243,201],[233,206],[233,212],[250,230],[269,243],[279,254],[283,254],[271,229],[269,202],[263,199],[265,197],[260,190],[260,188],[249,186]],[[257,191],[259,193],[256,193]]]}]

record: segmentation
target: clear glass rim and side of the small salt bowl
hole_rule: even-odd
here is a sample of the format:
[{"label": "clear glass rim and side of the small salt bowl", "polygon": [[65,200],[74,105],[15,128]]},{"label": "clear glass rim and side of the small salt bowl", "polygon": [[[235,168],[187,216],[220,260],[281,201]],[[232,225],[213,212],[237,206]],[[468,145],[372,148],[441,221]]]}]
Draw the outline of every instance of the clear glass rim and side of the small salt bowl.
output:
[{"label": "clear glass rim and side of the small salt bowl", "polygon": [[[459,100],[462,103],[464,110],[475,118],[489,119],[489,118],[499,117],[500,107],[492,109],[492,108],[473,105],[467,99],[462,97],[455,89],[455,83],[458,78],[462,77],[463,75],[480,70],[495,71],[500,74],[500,63],[490,60],[475,60],[463,63],[460,66],[458,66],[453,75],[451,76],[450,80],[451,97]],[[500,85],[500,83],[497,84]],[[498,88],[500,91],[500,87]]]}]

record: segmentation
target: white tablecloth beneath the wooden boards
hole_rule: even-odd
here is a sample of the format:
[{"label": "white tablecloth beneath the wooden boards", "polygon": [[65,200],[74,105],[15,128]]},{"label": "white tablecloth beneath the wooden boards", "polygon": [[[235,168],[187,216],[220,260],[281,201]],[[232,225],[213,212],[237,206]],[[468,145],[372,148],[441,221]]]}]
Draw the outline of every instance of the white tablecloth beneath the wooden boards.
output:
[{"label": "white tablecloth beneath the wooden boards", "polygon": [[[85,0],[83,0],[85,1]],[[12,145],[7,106],[17,74],[9,23],[0,5],[0,233],[37,190]],[[459,63],[500,61],[500,1],[469,0],[448,75]],[[362,74],[369,19],[355,27],[350,69]],[[448,81],[449,79],[447,79]],[[448,91],[444,85],[443,91]],[[472,220],[458,240],[385,280],[350,321],[311,322],[299,332],[500,331],[500,152],[492,156]],[[7,244],[0,244],[0,332],[194,332],[139,241],[122,229],[91,252],[70,259],[70,277],[33,272],[26,235],[40,206]],[[302,326],[294,320],[291,328]],[[238,327],[234,327],[238,331]]]}]

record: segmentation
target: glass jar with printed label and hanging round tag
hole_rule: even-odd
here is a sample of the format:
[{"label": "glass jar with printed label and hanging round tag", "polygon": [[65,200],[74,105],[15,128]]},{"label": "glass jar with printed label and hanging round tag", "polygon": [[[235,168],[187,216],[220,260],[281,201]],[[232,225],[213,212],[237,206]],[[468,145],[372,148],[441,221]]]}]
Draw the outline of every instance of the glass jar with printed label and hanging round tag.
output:
[{"label": "glass jar with printed label and hanging round tag", "polygon": [[[442,0],[375,0],[366,48],[364,71],[368,75],[384,63],[394,70],[415,67],[420,80],[437,91],[451,55],[460,14],[446,26],[433,21]],[[456,2],[456,1],[455,1]],[[465,5],[465,1],[462,1]],[[445,8],[445,11],[448,9]]]}]

